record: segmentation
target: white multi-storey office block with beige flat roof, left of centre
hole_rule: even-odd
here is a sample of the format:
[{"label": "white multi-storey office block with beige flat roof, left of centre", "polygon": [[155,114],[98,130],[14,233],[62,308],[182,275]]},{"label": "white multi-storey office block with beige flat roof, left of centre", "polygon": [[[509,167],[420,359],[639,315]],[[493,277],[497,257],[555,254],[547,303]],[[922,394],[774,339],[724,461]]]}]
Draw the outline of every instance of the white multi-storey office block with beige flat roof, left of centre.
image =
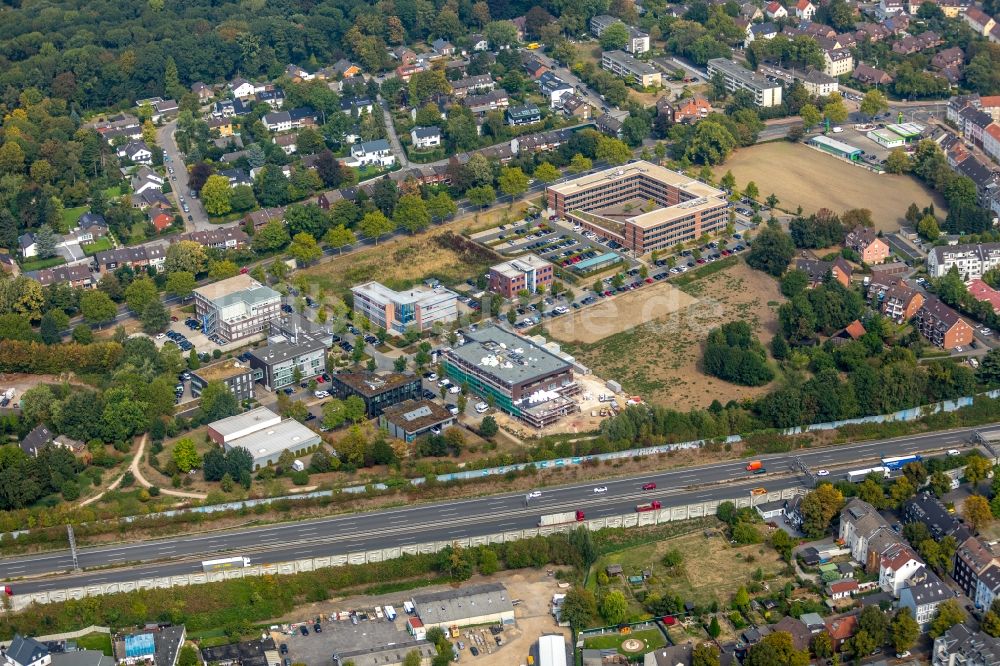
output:
[{"label": "white multi-storey office block with beige flat roof, left of centre", "polygon": [[201,330],[232,342],[267,330],[281,311],[281,294],[249,275],[236,275],[194,290]]}]

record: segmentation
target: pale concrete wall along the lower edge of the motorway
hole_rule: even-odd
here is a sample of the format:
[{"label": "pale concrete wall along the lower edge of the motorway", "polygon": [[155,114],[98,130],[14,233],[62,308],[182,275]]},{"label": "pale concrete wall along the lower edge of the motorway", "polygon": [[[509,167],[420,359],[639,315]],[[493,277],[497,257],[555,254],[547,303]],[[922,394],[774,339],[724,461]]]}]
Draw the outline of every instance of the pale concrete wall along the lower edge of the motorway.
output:
[{"label": "pale concrete wall along the lower edge of the motorway", "polygon": [[[11,608],[15,611],[19,611],[27,608],[32,603],[47,604],[66,601],[67,599],[82,599],[84,597],[116,594],[118,592],[131,592],[133,590],[148,590],[156,588],[165,589],[186,585],[200,585],[202,583],[214,583],[224,580],[246,578],[249,576],[291,575],[306,571],[314,571],[324,567],[343,566],[344,564],[382,562],[400,557],[403,554],[436,553],[443,550],[445,547],[454,544],[460,545],[463,548],[473,548],[484,544],[505,543],[508,541],[517,541],[519,539],[530,539],[539,535],[547,536],[549,534],[555,534],[556,532],[569,532],[579,526],[586,527],[587,529],[593,531],[609,528],[647,527],[651,525],[659,525],[661,523],[715,515],[719,504],[725,501],[733,502],[737,507],[745,507],[762,504],[764,502],[791,499],[796,495],[804,495],[806,492],[808,491],[801,487],[785,488],[784,490],[773,491],[767,493],[766,495],[758,495],[755,497],[744,495],[728,499],[709,500],[705,502],[698,502],[696,504],[664,507],[657,511],[626,513],[623,515],[607,516],[604,518],[591,518],[581,523],[566,523],[564,525],[549,525],[547,527],[531,527],[523,530],[507,530],[497,534],[461,537],[446,541],[431,541],[407,546],[393,546],[377,550],[355,551],[346,554],[292,560],[290,562],[259,564],[245,569],[230,569],[227,571],[213,571],[211,573],[198,571],[177,576],[139,578],[133,581],[92,584],[83,587],[71,587],[29,594],[15,594],[13,597],[10,597],[10,602]],[[85,633],[89,633],[89,631]]]}]

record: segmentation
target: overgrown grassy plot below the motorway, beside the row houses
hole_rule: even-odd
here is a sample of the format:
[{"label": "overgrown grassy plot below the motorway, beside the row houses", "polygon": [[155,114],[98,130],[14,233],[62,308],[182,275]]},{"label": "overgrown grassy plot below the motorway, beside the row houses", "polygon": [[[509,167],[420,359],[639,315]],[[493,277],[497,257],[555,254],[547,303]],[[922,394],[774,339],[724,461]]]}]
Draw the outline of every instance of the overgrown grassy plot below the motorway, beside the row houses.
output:
[{"label": "overgrown grassy plot below the motorway, beside the row houses", "polygon": [[[668,569],[663,566],[662,559],[672,550],[680,552],[683,559],[679,566]],[[605,555],[594,565],[591,580],[611,564],[620,564],[626,577],[652,569],[652,577],[643,585],[647,592],[677,596],[703,606],[712,600],[725,606],[741,585],[750,582],[757,568],[763,572],[765,580],[771,580],[785,568],[774,549],[763,544],[733,546],[719,530],[697,531]],[[769,584],[774,587],[773,583]],[[631,589],[621,577],[612,577],[609,585],[623,591]],[[779,585],[784,585],[784,579]],[[628,592],[626,597],[629,597]],[[630,600],[630,610],[639,610],[639,604]]]}]

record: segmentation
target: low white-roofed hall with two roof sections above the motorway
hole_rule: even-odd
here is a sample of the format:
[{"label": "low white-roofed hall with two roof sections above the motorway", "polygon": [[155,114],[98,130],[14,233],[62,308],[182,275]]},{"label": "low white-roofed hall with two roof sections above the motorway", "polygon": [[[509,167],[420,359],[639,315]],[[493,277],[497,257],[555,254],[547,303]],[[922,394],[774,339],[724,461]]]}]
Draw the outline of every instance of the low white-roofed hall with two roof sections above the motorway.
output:
[{"label": "low white-roofed hall with two roof sections above the motorway", "polygon": [[226,451],[244,448],[253,457],[254,469],[278,462],[281,452],[307,451],[320,443],[320,437],[294,419],[281,417],[267,407],[220,419],[208,425],[208,436]]}]

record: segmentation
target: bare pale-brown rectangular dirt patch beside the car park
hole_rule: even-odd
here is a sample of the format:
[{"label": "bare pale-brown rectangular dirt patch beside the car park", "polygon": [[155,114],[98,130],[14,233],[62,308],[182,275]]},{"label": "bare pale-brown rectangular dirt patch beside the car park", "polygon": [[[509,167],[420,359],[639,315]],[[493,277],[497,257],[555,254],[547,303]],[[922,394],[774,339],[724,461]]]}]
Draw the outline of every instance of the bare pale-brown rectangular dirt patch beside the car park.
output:
[{"label": "bare pale-brown rectangular dirt patch beside the car park", "polygon": [[558,340],[591,344],[640,324],[669,317],[697,302],[673,285],[660,282],[559,317],[548,329]]}]

